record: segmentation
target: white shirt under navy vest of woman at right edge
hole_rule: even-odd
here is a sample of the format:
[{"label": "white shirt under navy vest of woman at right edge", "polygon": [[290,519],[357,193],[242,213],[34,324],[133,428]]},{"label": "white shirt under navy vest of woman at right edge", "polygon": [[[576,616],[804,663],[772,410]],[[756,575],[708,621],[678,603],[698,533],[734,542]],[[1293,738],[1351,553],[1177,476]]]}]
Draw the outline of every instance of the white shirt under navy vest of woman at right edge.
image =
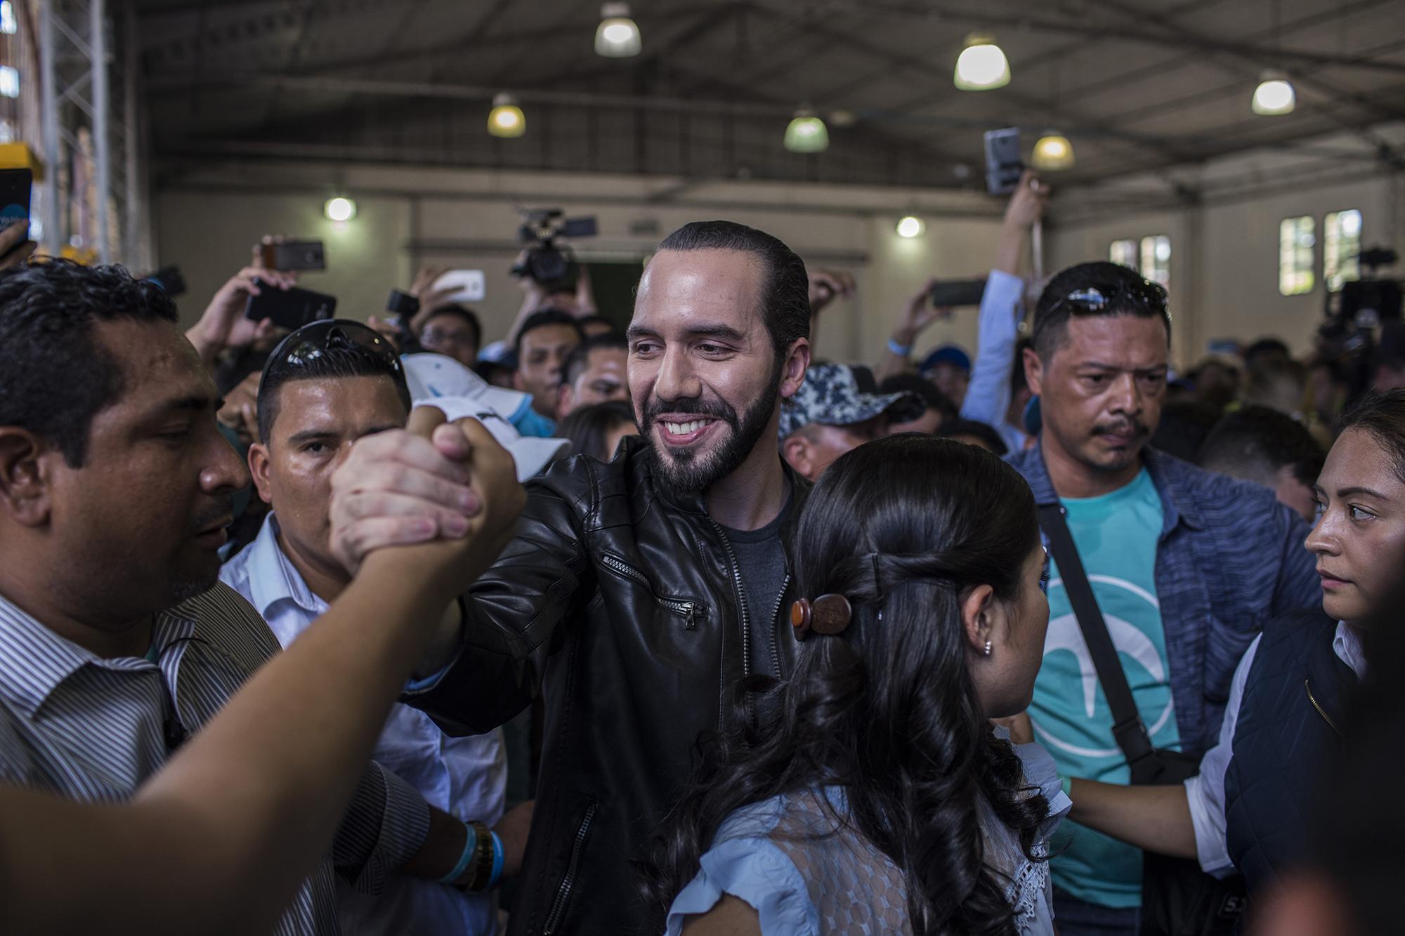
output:
[{"label": "white shirt under navy vest of woman at right edge", "polygon": [[[1245,651],[1239,668],[1234,672],[1229,686],[1229,701],[1225,706],[1225,720],[1220,727],[1220,743],[1211,748],[1200,762],[1200,773],[1186,780],[1186,798],[1190,801],[1190,821],[1196,826],[1196,856],[1205,874],[1228,877],[1234,873],[1229,860],[1229,840],[1225,835],[1225,773],[1234,758],[1234,731],[1239,724],[1239,707],[1243,704],[1243,686],[1249,682],[1253,658],[1259,652],[1260,637],[1253,638]],[[1366,676],[1366,655],[1361,651],[1361,637],[1346,624],[1338,621],[1332,638],[1332,652],[1352,668],[1357,679]]]}]

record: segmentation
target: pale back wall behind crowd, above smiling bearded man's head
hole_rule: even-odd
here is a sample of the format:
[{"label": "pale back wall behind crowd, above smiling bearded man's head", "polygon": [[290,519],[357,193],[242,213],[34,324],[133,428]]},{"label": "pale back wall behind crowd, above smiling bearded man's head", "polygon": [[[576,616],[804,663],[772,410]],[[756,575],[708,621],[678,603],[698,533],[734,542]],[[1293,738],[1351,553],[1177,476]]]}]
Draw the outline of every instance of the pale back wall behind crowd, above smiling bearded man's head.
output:
[{"label": "pale back wall behind crowd, above smiling bearded man's head", "polygon": [[[336,225],[322,216],[333,193],[355,198],[355,219]],[[391,288],[406,288],[420,264],[485,270],[488,298],[478,311],[489,336],[506,332],[521,301],[507,275],[518,249],[518,205],[596,215],[600,235],[577,245],[587,260],[638,260],[687,221],[728,218],[774,233],[812,267],[854,271],[857,297],[826,311],[819,353],[863,361],[878,358],[894,319],[929,277],[985,273],[1002,209],[967,193],[309,163],[169,174],[155,204],[160,264],[178,264],[190,285],[185,319],[261,235],[287,233],[326,242],[327,271],[302,282],[337,295],[339,315],[348,318],[379,312]],[[905,240],[895,225],[913,208],[927,232]],[[645,222],[658,233],[631,233]],[[948,340],[974,350],[974,309],[933,326],[919,349]]]}]

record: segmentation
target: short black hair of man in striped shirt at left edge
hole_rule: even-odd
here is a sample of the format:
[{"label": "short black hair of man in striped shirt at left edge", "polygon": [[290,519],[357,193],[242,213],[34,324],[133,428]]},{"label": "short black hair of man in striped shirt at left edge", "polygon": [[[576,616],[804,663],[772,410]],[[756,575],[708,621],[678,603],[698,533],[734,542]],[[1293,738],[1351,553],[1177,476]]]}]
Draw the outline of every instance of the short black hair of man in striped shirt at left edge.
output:
[{"label": "short black hair of man in striped shirt at left edge", "polygon": [[126,391],[129,375],[96,334],[118,320],[174,325],[176,304],[117,266],[0,270],[0,426],[27,429],[80,468],[93,417]]}]

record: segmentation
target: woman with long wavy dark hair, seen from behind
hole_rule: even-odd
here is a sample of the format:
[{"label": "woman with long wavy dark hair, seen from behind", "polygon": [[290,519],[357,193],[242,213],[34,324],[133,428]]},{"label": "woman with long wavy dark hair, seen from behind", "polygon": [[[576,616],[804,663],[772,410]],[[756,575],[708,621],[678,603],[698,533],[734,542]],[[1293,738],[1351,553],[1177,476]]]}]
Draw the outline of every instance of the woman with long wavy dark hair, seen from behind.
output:
[{"label": "woman with long wavy dark hair, seen from behind", "polygon": [[[1034,499],[993,454],[894,436],[811,495],[795,672],[714,736],[648,876],[669,933],[1052,933],[1054,762],[1024,710],[1048,602]],[[750,724],[749,720],[740,720]]]}]

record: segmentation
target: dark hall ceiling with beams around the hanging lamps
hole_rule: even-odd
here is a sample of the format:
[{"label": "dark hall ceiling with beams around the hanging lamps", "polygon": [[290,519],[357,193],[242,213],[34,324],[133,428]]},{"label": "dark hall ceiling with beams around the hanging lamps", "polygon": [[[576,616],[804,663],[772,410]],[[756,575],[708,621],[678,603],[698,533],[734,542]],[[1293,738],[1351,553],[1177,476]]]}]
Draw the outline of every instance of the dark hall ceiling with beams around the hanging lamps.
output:
[{"label": "dark hall ceiling with beams around the hanging lamps", "polygon": [[[1020,126],[1026,149],[1069,136],[1069,184],[1343,131],[1352,157],[1398,160],[1370,128],[1405,119],[1399,0],[635,0],[631,59],[594,53],[599,0],[136,8],[155,153],[177,159],[978,187],[982,132]],[[1007,87],[953,86],[972,31],[1005,49]],[[1266,69],[1291,77],[1293,114],[1250,112]],[[497,91],[525,136],[486,134]],[[781,146],[802,103],[829,122],[825,153]]]}]

